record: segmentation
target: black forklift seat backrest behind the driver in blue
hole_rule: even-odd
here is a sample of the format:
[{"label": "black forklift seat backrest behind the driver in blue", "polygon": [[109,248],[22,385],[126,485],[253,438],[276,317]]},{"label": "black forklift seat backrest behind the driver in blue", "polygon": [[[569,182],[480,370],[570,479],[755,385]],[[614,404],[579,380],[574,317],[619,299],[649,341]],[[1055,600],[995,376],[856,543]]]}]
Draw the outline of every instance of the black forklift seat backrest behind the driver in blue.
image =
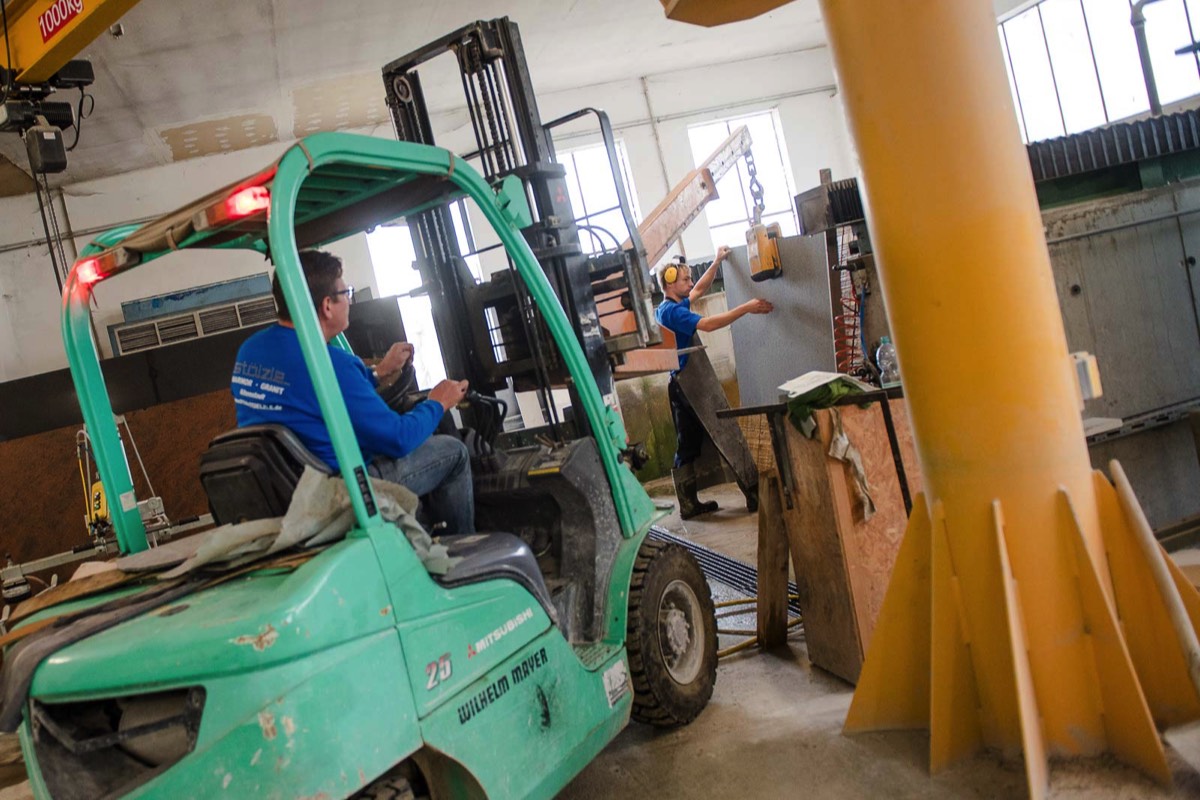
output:
[{"label": "black forklift seat backrest behind the driver in blue", "polygon": [[282,517],[305,467],[329,467],[282,425],[252,425],[222,433],[200,456],[200,483],[218,525]]}]

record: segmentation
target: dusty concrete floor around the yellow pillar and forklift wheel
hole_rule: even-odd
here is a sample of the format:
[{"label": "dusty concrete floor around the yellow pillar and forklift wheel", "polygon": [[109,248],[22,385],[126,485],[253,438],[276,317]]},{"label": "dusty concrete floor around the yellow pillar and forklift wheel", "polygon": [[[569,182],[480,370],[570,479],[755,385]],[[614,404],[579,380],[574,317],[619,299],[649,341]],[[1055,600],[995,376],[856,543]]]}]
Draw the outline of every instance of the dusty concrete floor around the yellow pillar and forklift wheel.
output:
[{"label": "dusty concrete floor around the yellow pillar and forklift wheel", "polygon": [[[733,486],[702,493],[722,510],[665,527],[710,549],[755,563],[757,523]],[[722,646],[726,644],[722,640]],[[562,800],[695,798],[1021,798],[1020,764],[980,756],[930,776],[929,736],[844,736],[853,688],[808,662],[803,640],[722,660],[709,706],[686,728],[632,723],[562,792]],[[1052,798],[1200,798],[1200,726],[1168,734],[1175,786],[1164,789],[1115,760],[1051,769]]]}]

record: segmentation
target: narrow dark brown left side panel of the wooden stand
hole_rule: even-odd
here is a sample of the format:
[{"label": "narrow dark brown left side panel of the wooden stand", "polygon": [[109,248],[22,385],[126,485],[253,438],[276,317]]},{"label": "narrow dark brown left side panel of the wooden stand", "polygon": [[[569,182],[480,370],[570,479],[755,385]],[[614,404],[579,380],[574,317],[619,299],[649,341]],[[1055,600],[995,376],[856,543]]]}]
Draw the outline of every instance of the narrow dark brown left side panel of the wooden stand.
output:
[{"label": "narrow dark brown left side panel of the wooden stand", "polygon": [[785,510],[804,637],[814,664],[850,682],[863,669],[863,650],[826,449],[787,426],[796,503]]}]

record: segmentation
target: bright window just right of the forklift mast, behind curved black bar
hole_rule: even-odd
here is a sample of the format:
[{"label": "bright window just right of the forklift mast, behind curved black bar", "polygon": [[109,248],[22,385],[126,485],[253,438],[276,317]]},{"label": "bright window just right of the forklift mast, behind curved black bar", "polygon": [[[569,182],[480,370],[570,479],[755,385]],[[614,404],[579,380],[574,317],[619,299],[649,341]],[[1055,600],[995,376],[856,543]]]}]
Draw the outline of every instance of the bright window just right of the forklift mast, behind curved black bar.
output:
[{"label": "bright window just right of the forklift mast, behind curved black bar", "polygon": [[[635,222],[641,222],[625,143],[617,139],[614,144],[617,167],[625,184],[630,213]],[[560,151],[557,160],[566,168],[566,191],[571,197],[571,210],[580,228],[583,252],[599,253],[619,248],[629,239],[629,228],[617,201],[617,184],[613,181],[604,143]]]}]

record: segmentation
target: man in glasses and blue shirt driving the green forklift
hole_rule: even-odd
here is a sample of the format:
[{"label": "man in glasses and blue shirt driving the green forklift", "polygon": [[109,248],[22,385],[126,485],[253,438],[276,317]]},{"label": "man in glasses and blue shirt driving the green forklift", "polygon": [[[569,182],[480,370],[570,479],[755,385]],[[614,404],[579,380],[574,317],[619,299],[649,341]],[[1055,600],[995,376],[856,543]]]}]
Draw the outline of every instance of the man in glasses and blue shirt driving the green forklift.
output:
[{"label": "man in glasses and blue shirt driving the green forklift", "polygon": [[[342,279],[342,261],[331,253],[300,253],[308,293],[326,342],[349,325],[354,288]],[[337,456],[320,414],[317,392],[300,351],[300,341],[276,275],[271,289],[278,323],[251,336],[238,350],[230,389],[238,426],[282,425],[335,473]],[[346,350],[329,345],[334,374],[349,411],[354,435],[367,471],[408,487],[426,498],[422,516],[442,533],[475,530],[475,503],[470,480],[470,456],[455,437],[433,435],[442,416],[467,393],[466,380],[443,380],[428,399],[407,414],[397,414],[376,391],[379,379],[397,373],[413,357],[413,345],[397,342],[374,369]]]}]

